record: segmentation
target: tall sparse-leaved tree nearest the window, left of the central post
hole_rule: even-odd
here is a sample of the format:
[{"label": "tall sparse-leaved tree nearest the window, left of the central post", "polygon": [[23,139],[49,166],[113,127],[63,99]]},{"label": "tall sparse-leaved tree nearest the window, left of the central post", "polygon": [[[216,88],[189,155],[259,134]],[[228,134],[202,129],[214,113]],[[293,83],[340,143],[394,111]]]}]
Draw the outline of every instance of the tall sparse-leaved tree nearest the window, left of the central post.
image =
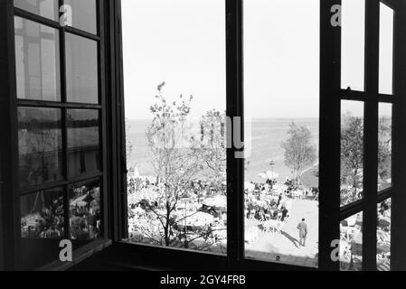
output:
[{"label": "tall sparse-leaved tree nearest the window, left of the central post", "polygon": [[[191,134],[187,118],[191,112],[193,97],[180,96],[178,101],[169,103],[163,96],[165,82],[157,87],[156,104],[150,107],[153,114],[146,137],[151,151],[151,163],[163,191],[154,202],[146,202],[146,211],[152,213],[160,228],[150,235],[158,235],[157,244],[164,246],[189,247],[197,238],[212,240],[212,229],[190,229],[184,226],[185,219],[197,211],[185,212],[178,216],[176,208],[188,194],[189,183],[203,169],[201,149]],[[151,232],[149,232],[151,233]],[[205,242],[206,243],[206,242]],[[209,242],[210,243],[210,242]]]}]

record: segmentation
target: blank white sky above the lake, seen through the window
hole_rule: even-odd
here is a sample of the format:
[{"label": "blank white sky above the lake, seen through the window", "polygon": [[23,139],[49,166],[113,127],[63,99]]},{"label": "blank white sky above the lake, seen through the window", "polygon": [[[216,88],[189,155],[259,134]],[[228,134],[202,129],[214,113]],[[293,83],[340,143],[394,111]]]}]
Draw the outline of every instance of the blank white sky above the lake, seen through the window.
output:
[{"label": "blank white sky above the lake, seen through the window", "polygon": [[[343,51],[343,87],[358,89],[364,0],[344,3],[351,4],[343,17],[353,29],[343,27],[345,43],[352,43]],[[194,95],[193,117],[225,110],[225,1],[122,0],[122,6],[127,118],[151,117],[162,81],[170,100]],[[244,1],[244,66],[247,117],[318,117],[319,0]]]}]

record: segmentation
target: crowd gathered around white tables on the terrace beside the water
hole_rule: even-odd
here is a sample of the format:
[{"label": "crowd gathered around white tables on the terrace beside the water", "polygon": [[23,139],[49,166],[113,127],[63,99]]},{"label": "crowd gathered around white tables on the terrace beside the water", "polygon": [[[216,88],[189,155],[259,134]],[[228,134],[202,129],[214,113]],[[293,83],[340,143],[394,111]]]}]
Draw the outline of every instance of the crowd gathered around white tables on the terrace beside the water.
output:
[{"label": "crowd gathered around white tables on the terrace beside the water", "polygon": [[[132,241],[159,244],[162,239],[163,218],[159,216],[166,216],[165,205],[168,197],[165,196],[165,191],[171,190],[160,181],[159,178],[153,177],[128,179],[128,227]],[[214,239],[212,248],[215,248],[217,243],[226,241],[226,183],[193,180],[177,184],[176,191],[176,208],[169,214],[169,218],[172,219],[170,228],[188,232],[222,231],[222,237],[220,234],[212,234]],[[259,223],[272,219],[287,222],[295,191],[300,191],[303,196],[310,196],[310,193],[311,196],[316,195],[313,190],[297,187],[290,179],[286,179],[283,184],[279,184],[276,180],[247,183],[244,198],[246,219],[253,219]],[[201,219],[194,219],[194,216]]]}]

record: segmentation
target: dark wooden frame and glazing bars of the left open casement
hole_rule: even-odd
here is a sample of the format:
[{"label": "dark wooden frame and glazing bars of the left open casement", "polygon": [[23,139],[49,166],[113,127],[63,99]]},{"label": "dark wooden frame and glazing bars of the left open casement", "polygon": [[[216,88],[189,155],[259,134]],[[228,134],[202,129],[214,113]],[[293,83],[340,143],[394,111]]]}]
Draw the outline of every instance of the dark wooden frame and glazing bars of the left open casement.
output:
[{"label": "dark wooden frame and glazing bars of the left open casement", "polygon": [[[99,180],[100,182],[100,210],[101,210],[101,235],[102,238],[90,240],[90,244],[86,245],[85,251],[78,249],[81,255],[89,255],[89,251],[94,251],[97,247],[104,247],[101,244],[109,245],[110,226],[109,226],[109,160],[108,160],[108,135],[107,135],[107,114],[106,114],[106,45],[105,45],[105,6],[106,0],[96,1],[97,15],[97,34],[88,33],[80,29],[62,26],[57,20],[51,20],[37,14],[33,14],[23,9],[14,7],[13,0],[2,1],[1,8],[1,23],[0,29],[0,61],[6,63],[0,69],[0,73],[4,78],[1,80],[2,86],[5,88],[5,93],[2,94],[2,106],[0,108],[3,124],[2,131],[5,131],[5,137],[2,137],[0,148],[2,155],[0,175],[0,202],[2,203],[2,215],[0,217],[0,229],[3,228],[3,235],[0,245],[0,265],[8,270],[22,269],[22,238],[20,232],[20,197],[29,195],[37,191],[48,190],[52,188],[63,188],[64,195],[64,216],[65,216],[65,236],[69,238],[69,194],[70,187],[75,183],[92,182]],[[63,5],[63,0],[58,0],[58,7]],[[42,24],[56,30],[59,35],[59,66],[61,76],[61,99],[58,101],[21,99],[16,95],[16,76],[15,76],[15,48],[14,48],[14,16],[21,17],[24,20],[33,21],[34,23]],[[97,42],[97,62],[98,62],[98,103],[72,103],[67,101],[66,96],[66,60],[65,60],[65,34],[71,33],[83,37],[85,39]],[[18,184],[18,107],[36,107],[36,108],[57,108],[61,111],[61,134],[62,134],[62,180],[56,182],[43,183],[41,185],[30,186],[29,188],[19,188]],[[98,111],[99,114],[99,172],[89,172],[76,177],[70,177],[68,172],[68,122],[67,113],[69,109],[92,109]],[[10,217],[11,216],[11,217]],[[3,232],[3,231],[2,231]],[[74,242],[73,242],[74,243]],[[83,244],[84,245],[84,244]],[[58,256],[55,256],[57,259]],[[59,260],[56,260],[59,261]],[[44,264],[45,265],[45,264]],[[56,265],[61,266],[61,264]]]}]

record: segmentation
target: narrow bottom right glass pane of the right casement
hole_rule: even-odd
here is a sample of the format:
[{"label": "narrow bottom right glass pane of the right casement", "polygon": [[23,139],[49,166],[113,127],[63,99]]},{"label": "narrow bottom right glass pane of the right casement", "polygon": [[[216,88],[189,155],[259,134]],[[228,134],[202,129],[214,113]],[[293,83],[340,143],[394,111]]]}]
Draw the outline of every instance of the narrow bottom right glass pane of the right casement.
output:
[{"label": "narrow bottom right glass pane of the right casement", "polygon": [[391,271],[391,214],[392,199],[378,204],[376,264],[379,271]]}]

